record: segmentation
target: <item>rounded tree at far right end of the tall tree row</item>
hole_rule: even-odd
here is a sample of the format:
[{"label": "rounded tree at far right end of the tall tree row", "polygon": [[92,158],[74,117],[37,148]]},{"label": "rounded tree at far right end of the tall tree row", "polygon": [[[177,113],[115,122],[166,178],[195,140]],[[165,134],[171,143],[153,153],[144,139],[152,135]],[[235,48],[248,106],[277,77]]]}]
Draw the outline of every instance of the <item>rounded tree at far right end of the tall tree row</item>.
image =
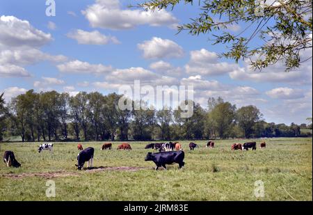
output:
[{"label": "rounded tree at far right end of the tall tree row", "polygon": [[262,117],[256,106],[243,106],[236,113],[236,120],[243,129],[246,138],[250,138],[255,123]]}]

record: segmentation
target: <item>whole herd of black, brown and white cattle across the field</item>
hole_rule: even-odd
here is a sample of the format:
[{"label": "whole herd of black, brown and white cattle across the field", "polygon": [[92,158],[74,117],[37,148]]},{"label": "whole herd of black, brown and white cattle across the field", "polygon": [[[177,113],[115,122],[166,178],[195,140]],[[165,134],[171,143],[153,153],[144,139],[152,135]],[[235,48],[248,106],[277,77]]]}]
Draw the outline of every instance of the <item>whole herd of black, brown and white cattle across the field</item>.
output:
[{"label": "whole herd of black, brown and white cattle across the field", "polygon": [[[205,147],[207,148],[214,148],[214,142],[209,141]],[[199,148],[198,144],[189,143],[189,150],[195,150],[195,148]],[[232,150],[248,150],[252,148],[252,150],[257,150],[257,143],[256,142],[249,142],[249,143],[234,143],[232,144]],[[260,148],[266,148],[266,143],[262,142],[260,144]],[[93,166],[93,157],[95,154],[95,149],[92,147],[88,147],[83,149],[83,145],[77,145],[77,149],[80,150],[77,156],[77,168],[81,170],[83,165],[87,162],[88,168]],[[155,170],[158,170],[159,167],[163,167],[166,169],[166,164],[173,164],[176,163],[179,165],[179,168],[184,166],[184,151],[182,149],[182,145],[178,142],[172,143],[150,143],[145,146],[145,149],[154,149],[159,150],[157,153],[148,152],[147,156],[145,157],[145,161],[153,161],[156,164]],[[38,148],[38,152],[42,152],[43,150],[49,150],[51,153],[54,151],[54,145],[51,143],[44,143],[41,144]],[[112,150],[112,143],[104,143],[100,150]],[[122,143],[118,145],[118,150],[131,150],[131,145],[129,143]],[[14,152],[6,151],[4,152],[3,161],[6,163],[6,166],[10,167],[20,167],[21,164],[15,159]]]}]

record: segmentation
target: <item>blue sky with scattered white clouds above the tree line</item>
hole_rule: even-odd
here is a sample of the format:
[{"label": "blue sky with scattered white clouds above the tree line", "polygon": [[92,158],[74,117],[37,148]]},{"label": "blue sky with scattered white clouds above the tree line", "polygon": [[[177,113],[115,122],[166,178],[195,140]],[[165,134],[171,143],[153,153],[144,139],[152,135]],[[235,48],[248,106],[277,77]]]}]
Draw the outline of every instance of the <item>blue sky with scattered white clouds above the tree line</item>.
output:
[{"label": "blue sky with scattered white clouds above the tree line", "polygon": [[[226,47],[212,45],[209,35],[177,34],[177,25],[200,13],[198,5],[154,13],[128,7],[138,2],[55,0],[56,15],[47,16],[42,0],[1,1],[0,92],[6,102],[30,89],[118,93],[136,79],[154,87],[192,85],[194,101],[204,108],[209,97],[237,108],[252,104],[267,122],[300,124],[312,117],[312,59],[292,72],[282,63],[250,70],[246,62],[219,58]],[[312,49],[303,56],[312,56]]]}]

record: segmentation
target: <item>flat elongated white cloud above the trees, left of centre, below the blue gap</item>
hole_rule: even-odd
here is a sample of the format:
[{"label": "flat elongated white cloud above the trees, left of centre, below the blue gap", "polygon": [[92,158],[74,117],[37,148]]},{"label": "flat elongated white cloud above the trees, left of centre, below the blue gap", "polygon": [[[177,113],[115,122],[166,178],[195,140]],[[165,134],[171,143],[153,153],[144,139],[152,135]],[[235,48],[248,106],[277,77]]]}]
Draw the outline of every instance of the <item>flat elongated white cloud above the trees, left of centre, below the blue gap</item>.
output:
[{"label": "flat elongated white cloud above the trees, left of centre, below the blue gap", "polygon": [[90,64],[82,61],[70,61],[57,65],[58,70],[65,73],[79,73],[79,74],[104,74],[112,71],[111,66],[102,64]]}]

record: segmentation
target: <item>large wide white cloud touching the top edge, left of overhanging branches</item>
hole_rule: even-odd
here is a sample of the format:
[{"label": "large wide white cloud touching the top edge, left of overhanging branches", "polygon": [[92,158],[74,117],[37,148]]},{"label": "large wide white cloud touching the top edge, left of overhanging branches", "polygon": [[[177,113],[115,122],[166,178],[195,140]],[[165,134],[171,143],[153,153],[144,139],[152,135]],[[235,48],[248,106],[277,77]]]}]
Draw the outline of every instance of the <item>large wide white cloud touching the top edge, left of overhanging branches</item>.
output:
[{"label": "large wide white cloud touching the top edge, left of overhanging branches", "polygon": [[166,10],[123,10],[118,0],[96,0],[81,13],[91,26],[102,29],[133,29],[136,26],[172,26],[178,20]]}]

